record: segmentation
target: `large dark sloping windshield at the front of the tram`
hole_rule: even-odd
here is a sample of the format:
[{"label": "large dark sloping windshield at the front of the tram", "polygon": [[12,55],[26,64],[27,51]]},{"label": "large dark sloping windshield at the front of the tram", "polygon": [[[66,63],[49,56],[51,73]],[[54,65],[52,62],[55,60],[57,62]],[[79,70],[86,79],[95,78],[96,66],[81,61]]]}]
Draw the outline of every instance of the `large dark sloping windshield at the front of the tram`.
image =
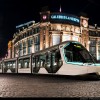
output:
[{"label": "large dark sloping windshield at the front of the tram", "polygon": [[93,56],[78,42],[69,42],[64,47],[64,55],[67,62],[95,63]]}]

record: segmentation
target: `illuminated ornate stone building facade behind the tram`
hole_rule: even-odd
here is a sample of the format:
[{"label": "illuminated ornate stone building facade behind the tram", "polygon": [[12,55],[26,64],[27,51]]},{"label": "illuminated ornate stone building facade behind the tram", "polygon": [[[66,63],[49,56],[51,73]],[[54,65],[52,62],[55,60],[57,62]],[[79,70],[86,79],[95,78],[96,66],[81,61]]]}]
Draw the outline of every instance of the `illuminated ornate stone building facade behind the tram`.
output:
[{"label": "illuminated ornate stone building facade behind the tram", "polygon": [[[75,40],[100,60],[100,27],[89,25],[88,20],[83,16],[61,12],[40,12],[40,22],[30,21],[16,27],[13,40],[8,43],[6,59],[22,57],[67,40]],[[29,60],[25,59],[24,62],[29,63]]]}]

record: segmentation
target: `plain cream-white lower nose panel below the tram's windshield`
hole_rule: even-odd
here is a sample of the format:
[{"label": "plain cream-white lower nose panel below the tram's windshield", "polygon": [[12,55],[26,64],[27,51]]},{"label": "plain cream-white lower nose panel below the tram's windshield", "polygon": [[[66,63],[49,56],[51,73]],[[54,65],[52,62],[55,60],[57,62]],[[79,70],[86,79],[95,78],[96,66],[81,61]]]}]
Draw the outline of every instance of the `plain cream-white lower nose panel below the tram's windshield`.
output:
[{"label": "plain cream-white lower nose panel below the tram's windshield", "polygon": [[63,64],[56,74],[62,75],[83,75],[100,72],[99,66],[80,66],[72,64]]}]

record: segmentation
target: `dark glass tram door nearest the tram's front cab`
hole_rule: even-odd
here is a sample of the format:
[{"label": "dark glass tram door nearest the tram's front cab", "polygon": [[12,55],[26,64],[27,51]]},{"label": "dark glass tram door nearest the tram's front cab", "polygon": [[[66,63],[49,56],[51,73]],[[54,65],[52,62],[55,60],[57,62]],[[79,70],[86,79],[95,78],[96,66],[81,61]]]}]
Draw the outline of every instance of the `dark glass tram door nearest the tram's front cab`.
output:
[{"label": "dark glass tram door nearest the tram's front cab", "polygon": [[59,50],[53,50],[46,54],[46,66],[48,73],[56,73],[62,66]]}]

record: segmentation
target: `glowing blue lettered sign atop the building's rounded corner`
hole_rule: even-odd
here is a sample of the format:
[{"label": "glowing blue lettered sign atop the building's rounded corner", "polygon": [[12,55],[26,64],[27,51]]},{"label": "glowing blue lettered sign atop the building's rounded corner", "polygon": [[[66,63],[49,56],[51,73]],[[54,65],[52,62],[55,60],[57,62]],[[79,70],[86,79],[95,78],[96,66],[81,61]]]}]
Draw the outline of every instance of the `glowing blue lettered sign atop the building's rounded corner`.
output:
[{"label": "glowing blue lettered sign atop the building's rounded corner", "polygon": [[50,22],[80,25],[80,18],[65,13],[52,13],[50,15]]}]

